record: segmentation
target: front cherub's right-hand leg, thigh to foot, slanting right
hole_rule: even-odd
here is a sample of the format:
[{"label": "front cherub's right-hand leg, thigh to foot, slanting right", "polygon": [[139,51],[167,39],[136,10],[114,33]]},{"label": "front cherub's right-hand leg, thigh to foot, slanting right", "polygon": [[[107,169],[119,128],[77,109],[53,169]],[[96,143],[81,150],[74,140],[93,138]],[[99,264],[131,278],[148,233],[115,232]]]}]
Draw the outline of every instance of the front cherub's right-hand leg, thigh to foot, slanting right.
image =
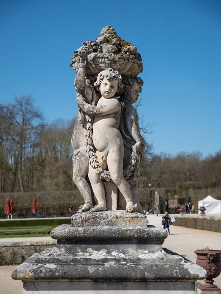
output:
[{"label": "front cherub's right-hand leg, thigh to foot, slanting right", "polygon": [[122,195],[124,196],[126,204],[126,212],[132,212],[134,203],[131,195],[131,188],[128,182],[123,177],[123,152],[120,150],[121,146],[116,146],[111,149],[107,156],[107,163],[112,181],[116,184]]}]

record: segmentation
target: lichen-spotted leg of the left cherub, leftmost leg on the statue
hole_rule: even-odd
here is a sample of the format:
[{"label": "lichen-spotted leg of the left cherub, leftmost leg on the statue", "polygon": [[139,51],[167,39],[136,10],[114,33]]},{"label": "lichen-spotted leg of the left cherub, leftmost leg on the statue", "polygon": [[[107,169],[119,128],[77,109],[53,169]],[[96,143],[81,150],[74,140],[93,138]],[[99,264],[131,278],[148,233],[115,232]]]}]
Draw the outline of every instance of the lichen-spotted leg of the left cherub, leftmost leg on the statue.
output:
[{"label": "lichen-spotted leg of the left cherub, leftmost leg on the statue", "polygon": [[93,207],[93,201],[91,197],[90,187],[85,180],[88,173],[88,159],[86,153],[80,150],[79,152],[74,150],[73,156],[73,181],[79,189],[84,199],[84,204],[78,210],[78,212],[88,211]]}]

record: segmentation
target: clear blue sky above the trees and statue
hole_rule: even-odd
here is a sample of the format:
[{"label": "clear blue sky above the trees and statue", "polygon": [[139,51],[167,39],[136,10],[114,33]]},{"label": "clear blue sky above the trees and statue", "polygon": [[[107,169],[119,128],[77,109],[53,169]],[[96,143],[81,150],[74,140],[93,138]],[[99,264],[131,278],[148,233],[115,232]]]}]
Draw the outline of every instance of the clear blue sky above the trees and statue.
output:
[{"label": "clear blue sky above the trees and statue", "polygon": [[221,0],[1,0],[0,103],[32,95],[49,122],[76,116],[72,54],[105,25],[141,53],[154,151],[218,151]]}]

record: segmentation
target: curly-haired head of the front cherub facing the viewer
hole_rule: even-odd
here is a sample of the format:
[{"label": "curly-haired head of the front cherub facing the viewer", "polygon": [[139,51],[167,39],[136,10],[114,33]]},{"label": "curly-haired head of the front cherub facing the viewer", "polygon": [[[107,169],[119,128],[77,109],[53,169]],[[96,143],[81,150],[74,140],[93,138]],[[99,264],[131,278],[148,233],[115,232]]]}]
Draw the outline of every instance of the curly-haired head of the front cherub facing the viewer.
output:
[{"label": "curly-haired head of the front cherub facing the viewer", "polygon": [[101,95],[104,98],[113,97],[117,90],[119,90],[121,85],[121,75],[117,72],[108,68],[105,71],[102,71],[97,76],[97,81],[94,83],[94,86],[100,89]]}]

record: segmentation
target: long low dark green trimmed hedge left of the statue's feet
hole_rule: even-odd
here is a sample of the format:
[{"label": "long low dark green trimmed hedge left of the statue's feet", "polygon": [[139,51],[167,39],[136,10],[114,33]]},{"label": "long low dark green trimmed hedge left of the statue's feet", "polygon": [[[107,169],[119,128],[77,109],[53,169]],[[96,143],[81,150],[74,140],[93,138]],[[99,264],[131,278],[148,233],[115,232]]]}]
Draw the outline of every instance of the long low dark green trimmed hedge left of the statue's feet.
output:
[{"label": "long low dark green trimmed hedge left of the statue's feet", "polygon": [[0,227],[19,227],[19,226],[40,226],[40,225],[50,225],[55,227],[61,224],[71,224],[71,219],[33,219],[33,220],[8,220],[0,221]]}]

